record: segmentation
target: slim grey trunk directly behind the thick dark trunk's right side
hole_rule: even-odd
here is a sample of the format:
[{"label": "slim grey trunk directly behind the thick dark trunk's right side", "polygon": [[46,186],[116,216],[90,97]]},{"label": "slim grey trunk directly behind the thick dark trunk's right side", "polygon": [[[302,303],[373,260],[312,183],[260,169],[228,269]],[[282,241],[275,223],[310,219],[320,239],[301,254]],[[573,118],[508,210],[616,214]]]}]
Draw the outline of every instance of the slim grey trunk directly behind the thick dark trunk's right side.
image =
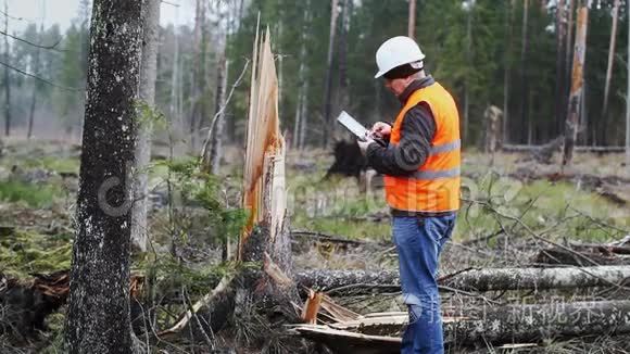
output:
[{"label": "slim grey trunk directly behind the thick dark trunk's right side", "polygon": [[[158,77],[158,37],[160,25],[160,0],[144,0],[142,40],[142,66],[140,68],[140,100],[148,108],[155,105],[155,79]],[[131,245],[140,252],[147,251],[147,210],[149,178],[147,167],[151,160],[151,135],[153,123],[144,117],[138,123],[136,144],[136,176],[134,178],[134,208],[131,223]]]}]

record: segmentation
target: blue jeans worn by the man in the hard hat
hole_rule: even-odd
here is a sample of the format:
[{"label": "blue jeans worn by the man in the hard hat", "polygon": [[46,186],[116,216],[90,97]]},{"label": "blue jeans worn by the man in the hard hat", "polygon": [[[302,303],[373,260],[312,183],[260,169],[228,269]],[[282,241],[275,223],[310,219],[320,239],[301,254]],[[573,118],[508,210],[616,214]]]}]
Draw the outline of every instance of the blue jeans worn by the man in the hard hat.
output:
[{"label": "blue jeans worn by the man in the hard hat", "polygon": [[393,217],[401,287],[410,312],[402,354],[444,353],[438,264],[454,225],[455,213],[439,217]]}]

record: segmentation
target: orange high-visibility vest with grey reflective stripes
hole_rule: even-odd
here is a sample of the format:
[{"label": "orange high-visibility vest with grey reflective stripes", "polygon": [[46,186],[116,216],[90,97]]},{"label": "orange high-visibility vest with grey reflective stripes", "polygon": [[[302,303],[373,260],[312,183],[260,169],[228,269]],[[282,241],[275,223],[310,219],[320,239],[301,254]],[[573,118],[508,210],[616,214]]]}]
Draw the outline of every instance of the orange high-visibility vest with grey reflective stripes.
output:
[{"label": "orange high-visibility vest with grey reflective stripes", "polygon": [[[405,177],[385,177],[388,204],[399,211],[439,213],[459,208],[459,170],[462,164],[459,113],[451,93],[434,83],[408,98],[393,125],[390,143],[401,140],[407,111],[425,102],[436,119],[436,134],[429,155],[418,170]],[[404,162],[404,156],[396,156]]]}]

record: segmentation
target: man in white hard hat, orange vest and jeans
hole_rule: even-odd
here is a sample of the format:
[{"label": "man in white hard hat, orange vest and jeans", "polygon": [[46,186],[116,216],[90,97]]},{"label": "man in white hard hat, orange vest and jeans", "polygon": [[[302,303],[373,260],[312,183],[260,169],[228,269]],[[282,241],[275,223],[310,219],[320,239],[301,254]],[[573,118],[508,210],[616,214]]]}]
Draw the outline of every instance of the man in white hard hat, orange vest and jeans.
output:
[{"label": "man in white hard hat, orange vest and jeans", "polygon": [[[376,52],[385,86],[401,101],[393,126],[379,122],[358,142],[369,165],[385,175],[393,240],[410,325],[402,353],[443,353],[438,260],[459,208],[459,114],[453,97],[424,69],[418,45],[387,40]],[[382,147],[371,139],[389,139]]]}]

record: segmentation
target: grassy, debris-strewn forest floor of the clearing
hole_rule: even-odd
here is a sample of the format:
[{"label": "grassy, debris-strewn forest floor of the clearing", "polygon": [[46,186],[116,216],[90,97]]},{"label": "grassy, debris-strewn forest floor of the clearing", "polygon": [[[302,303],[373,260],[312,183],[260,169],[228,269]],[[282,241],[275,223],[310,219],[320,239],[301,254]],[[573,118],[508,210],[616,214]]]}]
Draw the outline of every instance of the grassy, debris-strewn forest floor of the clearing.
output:
[{"label": "grassy, debris-strewn forest floor of the clearing", "polygon": [[[215,180],[222,204],[227,208],[239,204],[241,186],[242,164],[238,151],[232,150],[234,159],[227,159],[223,176]],[[492,163],[492,159],[478,152],[466,152],[464,156],[465,201],[452,240],[443,252],[440,275],[469,267],[536,265],[540,251],[552,246],[542,238],[569,245],[608,243],[630,235],[630,168],[623,165],[620,154],[578,154],[574,166],[562,175],[558,164],[539,165],[526,154],[499,153]],[[37,144],[15,141],[4,147],[0,157],[0,273],[26,279],[32,274],[70,268],[78,159],[78,148],[54,141]],[[287,159],[295,268],[396,269],[382,189],[362,192],[355,178],[324,179],[331,163],[332,156],[322,150],[290,152]],[[173,212],[169,200],[174,199],[173,186],[177,181],[168,167],[156,164],[150,175],[152,245],[150,252],[134,255],[134,269],[154,274],[158,279],[154,287],[162,287],[160,291],[165,296],[186,289],[194,301],[211,289],[216,277],[230,271],[230,264],[220,262],[224,238],[215,230],[216,215],[209,215],[194,201],[184,202]],[[378,177],[374,184],[378,185]],[[630,264],[630,258],[623,262]],[[601,290],[577,289],[570,294],[533,292],[527,301],[532,301],[531,296],[539,302],[557,296],[571,300],[628,296],[623,291],[602,295]],[[503,293],[486,296],[506,303],[525,301]],[[346,294],[336,301],[360,314],[405,311],[398,298],[399,293]],[[461,298],[456,293],[445,294],[445,308],[461,302]],[[163,307],[156,317],[167,328],[182,307]],[[0,352],[58,353],[62,325],[63,311],[49,316],[48,332],[20,345],[3,333]],[[252,328],[237,328],[217,341],[229,345],[237,340],[255,346],[256,339],[249,338],[251,331]],[[193,345],[177,340],[156,344],[174,353],[189,352],[187,347]],[[281,338],[276,345],[282,347]],[[197,353],[203,353],[199,347]],[[474,351],[493,349],[451,350]],[[600,334],[568,341],[550,338],[533,349],[512,352],[630,353],[630,338]]]}]

